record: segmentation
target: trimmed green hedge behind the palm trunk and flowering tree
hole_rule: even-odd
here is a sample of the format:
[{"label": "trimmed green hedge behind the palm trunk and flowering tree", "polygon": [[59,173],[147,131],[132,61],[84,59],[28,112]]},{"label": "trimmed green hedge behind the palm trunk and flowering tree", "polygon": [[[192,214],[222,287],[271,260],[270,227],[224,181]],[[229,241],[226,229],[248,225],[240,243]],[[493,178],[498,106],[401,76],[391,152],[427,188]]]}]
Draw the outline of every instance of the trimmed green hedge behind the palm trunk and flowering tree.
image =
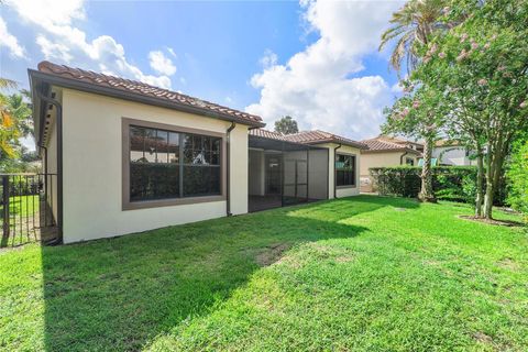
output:
[{"label": "trimmed green hedge behind the palm trunk and flowering tree", "polygon": [[[421,167],[395,166],[370,168],[380,195],[417,198],[421,187]],[[495,204],[505,205],[506,182],[495,195]],[[476,196],[476,166],[432,167],[432,189],[438,199],[473,204]]]}]

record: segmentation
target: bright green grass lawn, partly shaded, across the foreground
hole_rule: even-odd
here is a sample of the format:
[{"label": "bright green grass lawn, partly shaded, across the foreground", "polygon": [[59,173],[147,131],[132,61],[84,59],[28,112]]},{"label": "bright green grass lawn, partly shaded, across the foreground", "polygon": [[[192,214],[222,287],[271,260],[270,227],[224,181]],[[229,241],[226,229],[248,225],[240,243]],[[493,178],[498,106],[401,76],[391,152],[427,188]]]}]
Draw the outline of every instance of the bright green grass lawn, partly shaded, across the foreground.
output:
[{"label": "bright green grass lawn, partly shaded, across the foreground", "polygon": [[461,213],[361,196],[4,250],[0,350],[526,351],[526,229]]}]

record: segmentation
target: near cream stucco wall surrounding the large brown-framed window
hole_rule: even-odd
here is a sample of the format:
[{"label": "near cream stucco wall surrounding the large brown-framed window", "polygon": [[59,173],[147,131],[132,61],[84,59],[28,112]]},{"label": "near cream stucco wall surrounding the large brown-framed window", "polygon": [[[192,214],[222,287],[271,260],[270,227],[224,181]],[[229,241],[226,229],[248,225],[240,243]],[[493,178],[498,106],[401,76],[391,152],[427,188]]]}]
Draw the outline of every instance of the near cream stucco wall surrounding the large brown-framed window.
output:
[{"label": "near cream stucco wall surrounding the large brown-framed window", "polygon": [[[65,89],[64,242],[224,217],[227,201],[122,210],[122,118],[226,133],[230,122]],[[231,132],[231,211],[248,212],[248,127]],[[226,167],[226,165],[222,165]]]}]

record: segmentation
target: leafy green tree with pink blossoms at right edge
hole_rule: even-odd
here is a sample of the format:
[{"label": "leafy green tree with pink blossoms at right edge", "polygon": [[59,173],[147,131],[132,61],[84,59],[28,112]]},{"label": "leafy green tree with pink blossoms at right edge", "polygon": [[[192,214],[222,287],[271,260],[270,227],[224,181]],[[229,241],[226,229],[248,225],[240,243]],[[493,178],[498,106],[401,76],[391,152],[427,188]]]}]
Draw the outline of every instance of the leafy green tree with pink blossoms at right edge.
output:
[{"label": "leafy green tree with pink blossoms at right edge", "polygon": [[443,94],[449,133],[480,148],[486,189],[481,213],[491,219],[512,142],[528,129],[528,2],[455,1],[446,21],[460,18],[422,47],[413,79]]}]

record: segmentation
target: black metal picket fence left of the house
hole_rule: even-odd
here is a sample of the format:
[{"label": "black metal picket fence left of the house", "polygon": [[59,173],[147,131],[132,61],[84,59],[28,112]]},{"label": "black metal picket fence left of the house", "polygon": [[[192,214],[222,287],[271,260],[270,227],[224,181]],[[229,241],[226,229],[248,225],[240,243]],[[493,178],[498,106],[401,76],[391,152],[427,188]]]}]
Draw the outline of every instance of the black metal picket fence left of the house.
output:
[{"label": "black metal picket fence left of the house", "polygon": [[0,246],[47,241],[56,235],[55,174],[0,174]]}]

